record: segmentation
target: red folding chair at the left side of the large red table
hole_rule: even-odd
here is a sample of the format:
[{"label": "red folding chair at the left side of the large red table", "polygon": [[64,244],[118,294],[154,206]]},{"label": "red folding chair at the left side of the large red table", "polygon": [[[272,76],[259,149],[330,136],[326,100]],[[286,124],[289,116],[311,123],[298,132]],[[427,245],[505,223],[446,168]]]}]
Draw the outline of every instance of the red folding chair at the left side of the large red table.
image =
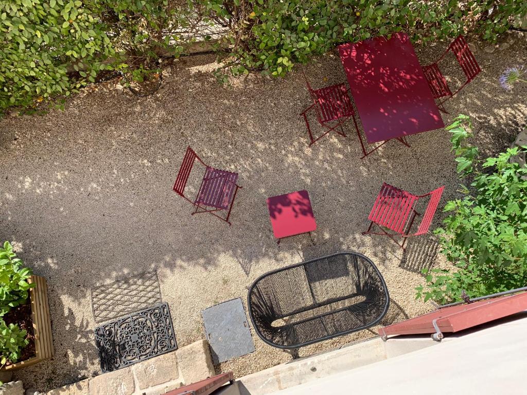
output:
[{"label": "red folding chair at the left side of the large red table", "polygon": [[[355,119],[355,111],[353,110],[352,100],[348,94],[349,87],[346,84],[336,84],[314,90],[311,88],[311,85],[309,85],[306,76],[304,76],[304,79],[306,80],[311,99],[313,99],[313,104],[301,113],[301,115],[304,115],[309,138],[311,139],[309,145],[313,145],[326,134],[337,129],[337,127],[340,127],[340,131],[335,131],[341,136],[346,137],[342,125],[349,117],[353,118],[355,129],[357,129],[358,134],[359,128]],[[318,123],[326,129],[326,132],[318,136],[316,139],[313,137],[313,133],[311,133],[309,121],[307,120],[307,112],[311,110],[311,108],[315,108]]]}]

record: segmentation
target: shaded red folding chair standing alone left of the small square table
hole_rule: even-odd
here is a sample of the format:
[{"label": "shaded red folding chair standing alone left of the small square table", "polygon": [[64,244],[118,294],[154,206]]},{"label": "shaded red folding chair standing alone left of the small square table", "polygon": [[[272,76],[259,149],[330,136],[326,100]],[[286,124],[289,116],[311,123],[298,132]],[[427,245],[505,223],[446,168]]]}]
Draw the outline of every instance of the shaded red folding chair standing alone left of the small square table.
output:
[{"label": "shaded red folding chair standing alone left of the small square table", "polygon": [[[198,160],[206,167],[203,180],[196,195],[196,199],[191,200],[184,195],[185,186],[192,171],[194,161]],[[236,197],[238,188],[241,188],[236,181],[238,180],[238,173],[231,173],[225,170],[214,169],[206,165],[200,157],[194,152],[191,147],[187,147],[187,152],[183,157],[183,163],[179,168],[178,177],[175,180],[173,190],[175,193],[188,200],[190,203],[196,206],[196,210],[192,213],[211,213],[217,216],[220,220],[227,222],[229,225],[230,213],[232,210],[232,204]],[[211,208],[212,210],[206,209]],[[227,218],[216,214],[217,211],[228,210]]]}]

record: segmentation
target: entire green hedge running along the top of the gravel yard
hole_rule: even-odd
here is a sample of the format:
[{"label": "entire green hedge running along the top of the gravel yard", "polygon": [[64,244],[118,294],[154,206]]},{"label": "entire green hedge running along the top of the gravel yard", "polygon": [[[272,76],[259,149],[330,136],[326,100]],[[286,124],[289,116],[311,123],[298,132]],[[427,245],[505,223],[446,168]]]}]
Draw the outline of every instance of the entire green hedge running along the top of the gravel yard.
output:
[{"label": "entire green hedge running along the top of the gravel yard", "polygon": [[183,51],[190,16],[230,27],[223,72],[284,76],[338,43],[399,30],[495,40],[526,12],[523,0],[2,0],[0,113],[68,95],[104,69],[152,70]]}]

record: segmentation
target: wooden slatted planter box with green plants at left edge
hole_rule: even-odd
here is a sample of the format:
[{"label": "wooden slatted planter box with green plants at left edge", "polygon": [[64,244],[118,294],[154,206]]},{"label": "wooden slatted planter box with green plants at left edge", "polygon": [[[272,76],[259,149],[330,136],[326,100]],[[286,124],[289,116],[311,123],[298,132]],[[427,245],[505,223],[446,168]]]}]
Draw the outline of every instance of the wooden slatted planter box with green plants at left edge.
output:
[{"label": "wooden slatted planter box with green plants at left edge", "polygon": [[46,281],[33,275],[13,246],[0,246],[0,370],[53,357]]}]

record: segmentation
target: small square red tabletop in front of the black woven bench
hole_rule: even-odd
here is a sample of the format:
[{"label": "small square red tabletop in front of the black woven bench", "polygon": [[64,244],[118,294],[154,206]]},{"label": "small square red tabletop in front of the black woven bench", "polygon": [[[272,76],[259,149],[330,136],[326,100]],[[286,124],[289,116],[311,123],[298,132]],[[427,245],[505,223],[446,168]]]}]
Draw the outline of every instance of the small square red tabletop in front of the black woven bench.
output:
[{"label": "small square red tabletop in front of the black woven bench", "polygon": [[307,191],[286,193],[267,199],[275,238],[282,239],[317,229]]}]

